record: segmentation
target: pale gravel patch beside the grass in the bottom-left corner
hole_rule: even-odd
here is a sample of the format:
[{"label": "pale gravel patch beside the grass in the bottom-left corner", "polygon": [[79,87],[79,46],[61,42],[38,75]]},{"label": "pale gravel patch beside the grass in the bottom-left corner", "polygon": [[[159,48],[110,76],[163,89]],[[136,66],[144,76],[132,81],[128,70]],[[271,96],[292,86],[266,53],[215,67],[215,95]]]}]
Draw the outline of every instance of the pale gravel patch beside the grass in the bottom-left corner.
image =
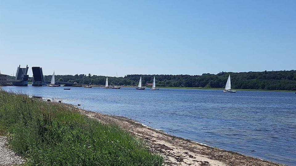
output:
[{"label": "pale gravel patch beside the grass in the bottom-left corner", "polygon": [[8,166],[22,164],[24,160],[8,148],[6,140],[7,138],[5,136],[0,136],[0,165]]}]

